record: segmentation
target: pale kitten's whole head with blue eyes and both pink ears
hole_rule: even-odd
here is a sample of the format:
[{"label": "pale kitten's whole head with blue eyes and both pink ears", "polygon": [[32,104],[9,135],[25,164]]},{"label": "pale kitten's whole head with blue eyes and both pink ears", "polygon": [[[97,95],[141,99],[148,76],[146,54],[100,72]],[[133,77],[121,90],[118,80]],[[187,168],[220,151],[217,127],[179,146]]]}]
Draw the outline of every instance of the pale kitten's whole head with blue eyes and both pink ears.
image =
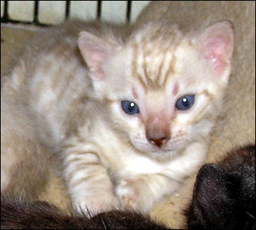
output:
[{"label": "pale kitten's whole head with blue eyes and both pink ears", "polygon": [[148,23],[127,42],[82,32],[78,46],[113,127],[143,153],[170,156],[207,139],[230,75],[233,28],[215,23],[184,35]]}]

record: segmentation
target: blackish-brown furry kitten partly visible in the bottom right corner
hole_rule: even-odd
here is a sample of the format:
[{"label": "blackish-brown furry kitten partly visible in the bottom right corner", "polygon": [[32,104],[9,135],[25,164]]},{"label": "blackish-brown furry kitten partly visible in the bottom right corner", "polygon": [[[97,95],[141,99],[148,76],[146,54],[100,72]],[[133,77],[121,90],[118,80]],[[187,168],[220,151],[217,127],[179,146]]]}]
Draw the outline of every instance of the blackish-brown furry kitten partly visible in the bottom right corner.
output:
[{"label": "blackish-brown furry kitten partly visible in the bottom right corner", "polygon": [[203,166],[191,203],[189,229],[255,229],[255,145]]}]

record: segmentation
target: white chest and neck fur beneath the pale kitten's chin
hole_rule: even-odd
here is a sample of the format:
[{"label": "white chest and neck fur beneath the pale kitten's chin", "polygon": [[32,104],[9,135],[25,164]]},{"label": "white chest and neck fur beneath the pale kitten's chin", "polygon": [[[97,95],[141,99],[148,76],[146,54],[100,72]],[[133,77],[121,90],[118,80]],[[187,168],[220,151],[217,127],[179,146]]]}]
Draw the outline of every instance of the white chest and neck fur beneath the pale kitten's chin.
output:
[{"label": "white chest and neck fur beneath the pale kitten's chin", "polygon": [[95,147],[102,164],[117,177],[159,174],[181,182],[184,177],[195,172],[206,158],[207,147],[204,142],[194,142],[173,157],[166,153],[166,158],[159,161],[124,143],[105,123],[97,123],[97,135],[95,131],[89,134],[90,139],[97,143]]}]

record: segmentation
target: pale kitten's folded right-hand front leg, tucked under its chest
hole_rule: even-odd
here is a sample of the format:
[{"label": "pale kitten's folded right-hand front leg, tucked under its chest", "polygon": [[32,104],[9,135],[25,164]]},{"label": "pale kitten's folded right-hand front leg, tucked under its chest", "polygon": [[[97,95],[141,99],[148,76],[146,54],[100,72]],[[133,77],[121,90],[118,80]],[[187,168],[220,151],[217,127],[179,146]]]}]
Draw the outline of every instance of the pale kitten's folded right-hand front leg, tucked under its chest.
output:
[{"label": "pale kitten's folded right-hand front leg, tucked under its chest", "polygon": [[116,193],[125,209],[148,213],[154,203],[175,191],[179,183],[165,175],[137,175],[121,180]]}]

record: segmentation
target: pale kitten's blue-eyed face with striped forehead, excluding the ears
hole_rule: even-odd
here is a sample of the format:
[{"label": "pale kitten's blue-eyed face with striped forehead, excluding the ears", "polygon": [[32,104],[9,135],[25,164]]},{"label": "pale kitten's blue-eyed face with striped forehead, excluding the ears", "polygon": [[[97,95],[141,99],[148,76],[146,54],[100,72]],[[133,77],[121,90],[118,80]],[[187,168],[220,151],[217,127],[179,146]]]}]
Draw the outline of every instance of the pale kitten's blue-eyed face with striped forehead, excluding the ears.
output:
[{"label": "pale kitten's blue-eyed face with striped forehead, excluding the ears", "polygon": [[205,138],[214,124],[222,93],[211,68],[185,43],[175,53],[148,55],[148,64],[127,47],[105,65],[106,76],[117,78],[104,86],[113,123],[140,151],[176,154]]}]

